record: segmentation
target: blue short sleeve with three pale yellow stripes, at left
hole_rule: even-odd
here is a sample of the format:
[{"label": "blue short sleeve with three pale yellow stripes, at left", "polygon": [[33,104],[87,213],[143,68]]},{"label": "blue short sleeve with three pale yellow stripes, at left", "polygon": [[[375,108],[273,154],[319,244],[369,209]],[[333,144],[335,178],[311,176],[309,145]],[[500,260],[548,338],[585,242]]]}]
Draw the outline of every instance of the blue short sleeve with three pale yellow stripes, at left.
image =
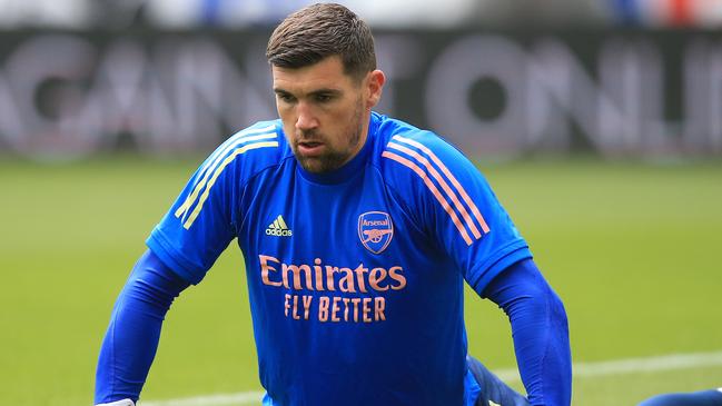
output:
[{"label": "blue short sleeve with three pale yellow stripes, at left", "polygon": [[235,237],[236,202],[253,171],[248,157],[256,155],[250,151],[278,147],[277,138],[268,122],[229,138],[198,168],[150,234],[148,247],[184,279],[198,284]]}]

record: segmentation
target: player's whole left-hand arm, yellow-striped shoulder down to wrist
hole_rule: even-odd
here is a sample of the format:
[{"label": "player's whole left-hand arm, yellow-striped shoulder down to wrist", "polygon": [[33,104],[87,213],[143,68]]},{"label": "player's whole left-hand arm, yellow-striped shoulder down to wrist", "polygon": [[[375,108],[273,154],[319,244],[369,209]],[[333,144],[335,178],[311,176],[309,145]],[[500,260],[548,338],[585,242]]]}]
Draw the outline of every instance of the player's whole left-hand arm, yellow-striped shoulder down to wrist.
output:
[{"label": "player's whole left-hand arm, yellow-striped shoulder down to wrist", "polygon": [[150,250],[120,294],[100,350],[96,403],[138,399],[170,304],[189,284],[199,284],[236,238],[246,182],[277,165],[279,135],[279,122],[261,121],[228,138],[150,232]]}]

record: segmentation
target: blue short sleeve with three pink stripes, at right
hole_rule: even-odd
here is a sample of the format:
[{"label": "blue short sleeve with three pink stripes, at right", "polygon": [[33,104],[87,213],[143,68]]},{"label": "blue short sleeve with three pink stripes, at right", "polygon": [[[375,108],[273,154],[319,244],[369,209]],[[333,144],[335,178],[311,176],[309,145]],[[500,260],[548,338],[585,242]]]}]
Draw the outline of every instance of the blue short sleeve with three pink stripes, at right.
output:
[{"label": "blue short sleeve with three pink stripes, at right", "polygon": [[479,295],[506,267],[532,257],[486,179],[454,147],[417,132],[394,136],[383,156],[412,170],[405,195],[414,211]]}]

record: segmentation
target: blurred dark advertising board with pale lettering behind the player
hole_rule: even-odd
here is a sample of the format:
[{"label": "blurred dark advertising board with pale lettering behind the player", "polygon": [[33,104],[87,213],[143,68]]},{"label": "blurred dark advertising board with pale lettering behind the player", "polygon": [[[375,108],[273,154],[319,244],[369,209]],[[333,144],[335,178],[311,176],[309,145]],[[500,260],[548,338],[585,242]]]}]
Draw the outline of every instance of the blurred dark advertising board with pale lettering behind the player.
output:
[{"label": "blurred dark advertising board with pale lettering behind the player", "polygon": [[[208,151],[275,118],[255,31],[4,31],[0,154]],[[376,31],[377,110],[476,157],[722,156],[710,31]]]}]

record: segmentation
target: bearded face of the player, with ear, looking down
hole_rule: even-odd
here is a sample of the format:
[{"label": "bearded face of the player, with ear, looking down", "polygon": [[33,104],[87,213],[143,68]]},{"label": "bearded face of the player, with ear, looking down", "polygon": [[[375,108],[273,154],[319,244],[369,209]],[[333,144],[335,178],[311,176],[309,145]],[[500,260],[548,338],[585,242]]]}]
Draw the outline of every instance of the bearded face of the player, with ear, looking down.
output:
[{"label": "bearded face of the player, with ear, looking down", "polygon": [[354,80],[344,73],[340,58],[329,57],[299,69],[274,66],[271,73],[284,132],[304,169],[326,172],[356,156],[380,97],[380,71]]}]

